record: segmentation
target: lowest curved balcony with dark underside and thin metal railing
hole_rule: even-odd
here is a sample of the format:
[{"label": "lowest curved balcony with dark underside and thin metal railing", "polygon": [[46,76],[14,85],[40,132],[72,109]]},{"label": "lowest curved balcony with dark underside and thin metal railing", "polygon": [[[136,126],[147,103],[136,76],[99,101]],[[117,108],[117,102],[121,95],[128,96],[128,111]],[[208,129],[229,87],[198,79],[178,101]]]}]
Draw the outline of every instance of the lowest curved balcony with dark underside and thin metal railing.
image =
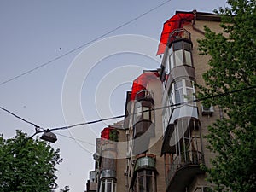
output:
[{"label": "lowest curved balcony with dark underside and thin metal railing", "polygon": [[183,154],[177,154],[166,175],[166,189],[177,189],[177,192],[189,185],[196,174],[203,172],[200,165],[203,164],[201,152],[192,150]]}]

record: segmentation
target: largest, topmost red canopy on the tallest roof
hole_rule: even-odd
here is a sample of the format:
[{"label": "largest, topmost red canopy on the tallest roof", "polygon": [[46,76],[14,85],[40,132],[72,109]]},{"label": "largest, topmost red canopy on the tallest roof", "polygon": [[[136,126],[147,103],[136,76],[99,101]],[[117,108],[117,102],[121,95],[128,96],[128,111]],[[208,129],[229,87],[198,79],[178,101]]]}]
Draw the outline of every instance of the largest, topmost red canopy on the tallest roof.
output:
[{"label": "largest, topmost red canopy on the tallest roof", "polygon": [[165,53],[166,44],[170,33],[172,33],[172,31],[175,29],[183,28],[184,24],[188,24],[189,22],[191,22],[191,20],[194,20],[193,13],[177,13],[176,15],[172,16],[171,19],[167,20],[164,23],[164,28],[160,38],[160,44],[158,45],[158,51],[156,55]]}]

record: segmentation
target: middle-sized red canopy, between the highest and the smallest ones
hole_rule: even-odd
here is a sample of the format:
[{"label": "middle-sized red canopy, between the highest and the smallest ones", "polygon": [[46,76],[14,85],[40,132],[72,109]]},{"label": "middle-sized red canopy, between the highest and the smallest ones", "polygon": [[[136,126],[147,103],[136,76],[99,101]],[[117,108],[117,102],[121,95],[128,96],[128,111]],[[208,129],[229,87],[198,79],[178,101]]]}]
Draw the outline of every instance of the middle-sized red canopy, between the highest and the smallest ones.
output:
[{"label": "middle-sized red canopy, between the highest and the smallest ones", "polygon": [[156,79],[157,77],[159,77],[159,73],[157,72],[146,72],[138,76],[132,84],[131,100],[135,100],[137,92],[146,89],[148,82],[152,79]]}]

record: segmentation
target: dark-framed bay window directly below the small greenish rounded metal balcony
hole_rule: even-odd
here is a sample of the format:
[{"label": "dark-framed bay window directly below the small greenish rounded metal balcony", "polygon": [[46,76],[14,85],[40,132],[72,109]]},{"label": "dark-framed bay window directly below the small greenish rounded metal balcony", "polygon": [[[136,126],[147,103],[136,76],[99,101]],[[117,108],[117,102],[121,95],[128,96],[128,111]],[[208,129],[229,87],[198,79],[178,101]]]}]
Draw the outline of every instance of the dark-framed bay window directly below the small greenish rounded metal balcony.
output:
[{"label": "dark-framed bay window directly below the small greenish rounded metal balcony", "polygon": [[133,192],[156,192],[156,177],[154,170],[140,170],[137,172]]}]

